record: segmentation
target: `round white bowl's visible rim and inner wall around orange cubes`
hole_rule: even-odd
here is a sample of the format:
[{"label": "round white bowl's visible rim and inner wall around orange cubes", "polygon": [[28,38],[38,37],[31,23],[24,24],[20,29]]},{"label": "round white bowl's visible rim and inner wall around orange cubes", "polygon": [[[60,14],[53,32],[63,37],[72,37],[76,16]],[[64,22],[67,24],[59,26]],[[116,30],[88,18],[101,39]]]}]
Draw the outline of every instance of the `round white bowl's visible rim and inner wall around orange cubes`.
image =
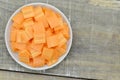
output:
[{"label": "round white bowl's visible rim and inner wall around orange cubes", "polygon": [[[11,24],[12,24],[12,20],[11,20],[11,19],[12,19],[12,17],[13,17],[16,13],[18,13],[18,12],[21,10],[21,8],[23,8],[23,7],[25,7],[25,6],[29,6],[29,5],[33,5],[33,6],[39,6],[39,5],[40,5],[40,6],[44,6],[44,7],[51,8],[52,10],[60,13],[60,14],[62,15],[64,21],[65,21],[65,22],[68,24],[68,26],[69,26],[69,29],[70,29],[70,39],[69,39],[68,44],[67,44],[67,51],[66,51],[66,53],[65,53],[63,56],[61,56],[61,57],[59,58],[58,62],[56,62],[55,64],[53,64],[53,65],[51,65],[51,66],[47,66],[47,65],[46,65],[46,66],[38,67],[38,68],[33,68],[33,67],[31,67],[31,66],[28,66],[28,65],[26,65],[25,63],[20,62],[20,61],[18,60],[18,55],[15,54],[15,53],[11,50],[11,48],[10,48],[10,40],[9,40],[9,39],[10,39],[10,27],[11,27]],[[69,50],[70,50],[70,48],[71,48],[71,44],[72,44],[72,29],[71,29],[71,26],[70,26],[70,23],[69,23],[67,17],[66,17],[59,9],[57,9],[56,7],[54,7],[54,6],[52,6],[52,5],[49,5],[49,4],[46,4],[46,3],[30,3],[30,4],[26,4],[26,5],[22,6],[22,7],[20,7],[19,9],[17,9],[17,10],[12,14],[12,16],[10,17],[10,19],[8,20],[8,23],[7,23],[6,29],[5,29],[5,43],[6,43],[6,47],[7,47],[7,49],[8,49],[9,54],[11,55],[11,57],[12,57],[18,64],[20,64],[21,66],[23,66],[23,67],[25,67],[25,68],[31,69],[31,70],[45,70],[45,69],[49,69],[49,68],[52,68],[52,67],[56,66],[57,64],[59,64],[59,63],[68,55],[68,52],[69,52]]]}]

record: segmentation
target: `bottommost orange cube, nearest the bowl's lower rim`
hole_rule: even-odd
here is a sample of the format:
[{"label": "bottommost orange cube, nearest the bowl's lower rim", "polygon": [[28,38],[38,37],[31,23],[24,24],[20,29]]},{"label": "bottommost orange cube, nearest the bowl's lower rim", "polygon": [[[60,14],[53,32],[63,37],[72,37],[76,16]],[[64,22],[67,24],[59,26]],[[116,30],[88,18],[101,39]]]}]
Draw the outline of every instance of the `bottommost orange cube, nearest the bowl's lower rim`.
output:
[{"label": "bottommost orange cube, nearest the bowl's lower rim", "polygon": [[33,63],[32,63],[33,67],[42,67],[44,65],[45,65],[45,59],[42,58],[41,56],[37,56],[33,58]]}]

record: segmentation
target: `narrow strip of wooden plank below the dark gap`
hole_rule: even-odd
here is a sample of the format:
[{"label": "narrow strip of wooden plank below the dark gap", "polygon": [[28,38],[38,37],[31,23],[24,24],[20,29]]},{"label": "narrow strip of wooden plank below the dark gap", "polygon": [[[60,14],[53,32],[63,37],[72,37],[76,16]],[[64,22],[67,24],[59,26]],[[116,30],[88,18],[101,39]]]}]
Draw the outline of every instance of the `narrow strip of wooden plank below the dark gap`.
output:
[{"label": "narrow strip of wooden plank below the dark gap", "polygon": [[82,80],[82,79],[0,71],[0,80]]}]

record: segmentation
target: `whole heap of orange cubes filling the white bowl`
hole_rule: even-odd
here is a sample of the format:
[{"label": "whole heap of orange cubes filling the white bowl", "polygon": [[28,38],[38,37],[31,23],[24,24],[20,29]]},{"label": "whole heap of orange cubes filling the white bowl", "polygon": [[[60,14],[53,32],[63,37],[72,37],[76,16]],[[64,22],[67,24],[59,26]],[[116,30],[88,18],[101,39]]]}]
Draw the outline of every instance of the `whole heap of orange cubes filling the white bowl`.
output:
[{"label": "whole heap of orange cubes filling the white bowl", "polygon": [[51,66],[66,53],[69,28],[62,16],[42,6],[26,6],[12,18],[10,46],[31,67]]}]

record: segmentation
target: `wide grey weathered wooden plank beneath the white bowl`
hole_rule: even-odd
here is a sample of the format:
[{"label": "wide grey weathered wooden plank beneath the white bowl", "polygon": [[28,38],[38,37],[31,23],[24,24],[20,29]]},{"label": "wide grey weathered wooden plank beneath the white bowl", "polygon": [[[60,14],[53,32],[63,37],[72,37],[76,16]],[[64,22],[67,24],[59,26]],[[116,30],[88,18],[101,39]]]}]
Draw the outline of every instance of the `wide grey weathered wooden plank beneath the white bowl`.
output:
[{"label": "wide grey weathered wooden plank beneath the white bowl", "polygon": [[[59,8],[71,22],[73,44],[58,66],[31,71],[18,65],[4,42],[6,23],[20,6],[31,2]],[[82,78],[120,80],[120,10],[89,4],[89,0],[0,0],[0,69]]]}]

